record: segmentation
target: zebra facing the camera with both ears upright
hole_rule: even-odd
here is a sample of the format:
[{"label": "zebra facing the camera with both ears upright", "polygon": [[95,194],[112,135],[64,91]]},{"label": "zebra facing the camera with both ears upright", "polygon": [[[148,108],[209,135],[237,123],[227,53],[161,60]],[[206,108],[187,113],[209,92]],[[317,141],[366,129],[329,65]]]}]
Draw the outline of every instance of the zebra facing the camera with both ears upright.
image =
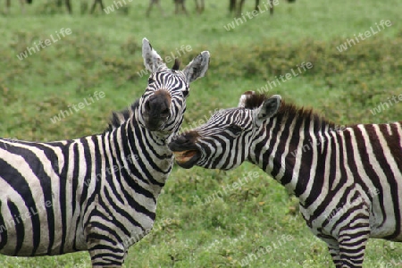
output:
[{"label": "zebra facing the camera with both ears upright", "polygon": [[168,69],[146,38],[145,93],[113,113],[105,132],[54,142],[0,139],[0,253],[88,251],[93,267],[121,267],[155,222],[172,170],[168,142],[180,129],[189,83],[205,75],[209,52]]}]

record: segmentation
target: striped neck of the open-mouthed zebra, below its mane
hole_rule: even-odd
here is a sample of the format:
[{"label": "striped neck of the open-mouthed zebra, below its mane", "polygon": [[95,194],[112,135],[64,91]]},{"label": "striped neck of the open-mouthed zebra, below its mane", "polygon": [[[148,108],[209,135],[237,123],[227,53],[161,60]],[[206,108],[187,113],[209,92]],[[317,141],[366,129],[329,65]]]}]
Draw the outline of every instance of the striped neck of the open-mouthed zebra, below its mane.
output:
[{"label": "striped neck of the open-mouthed zebra, below its mane", "polygon": [[[281,119],[281,118],[280,118]],[[255,138],[250,161],[272,175],[303,204],[313,183],[320,183],[325,170],[328,144],[338,130],[331,123],[311,118],[277,118],[268,122]]]}]

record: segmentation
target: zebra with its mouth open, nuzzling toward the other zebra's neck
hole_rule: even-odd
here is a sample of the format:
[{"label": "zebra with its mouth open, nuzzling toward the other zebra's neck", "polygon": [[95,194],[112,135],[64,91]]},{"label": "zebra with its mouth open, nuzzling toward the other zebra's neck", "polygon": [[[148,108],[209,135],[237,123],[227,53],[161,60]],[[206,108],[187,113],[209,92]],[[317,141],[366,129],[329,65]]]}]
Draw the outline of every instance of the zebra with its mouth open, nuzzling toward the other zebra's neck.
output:
[{"label": "zebra with its mouth open, nuzzling toward the other zebra's neck", "polygon": [[248,161],[271,174],[298,197],[336,267],[362,267],[369,238],[402,241],[402,121],[339,126],[281,96],[247,91],[239,107],[169,147],[184,168]]}]

